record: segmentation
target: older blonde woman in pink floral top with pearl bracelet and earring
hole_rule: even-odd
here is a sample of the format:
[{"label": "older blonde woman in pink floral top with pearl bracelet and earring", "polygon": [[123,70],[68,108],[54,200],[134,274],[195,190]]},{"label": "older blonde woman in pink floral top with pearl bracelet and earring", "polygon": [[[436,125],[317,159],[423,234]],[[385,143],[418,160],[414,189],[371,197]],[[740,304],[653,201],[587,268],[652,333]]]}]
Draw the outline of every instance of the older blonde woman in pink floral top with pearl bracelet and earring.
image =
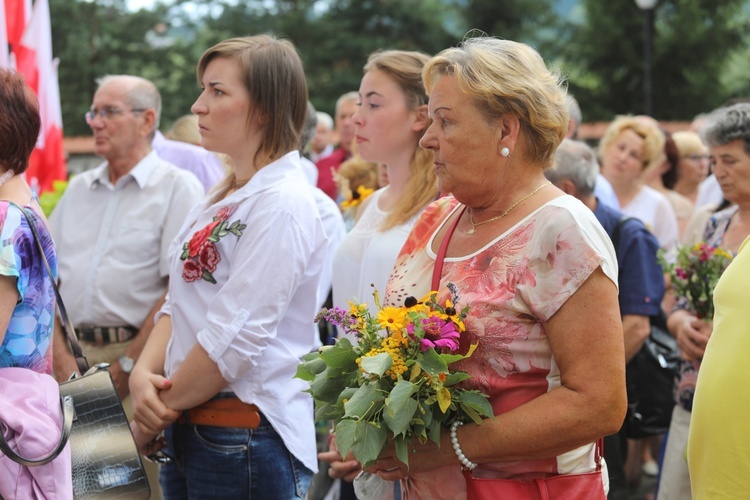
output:
[{"label": "older blonde woman in pink floral top with pearl bracelet and earring", "polygon": [[595,443],[626,407],[617,263],[591,210],[544,176],[568,126],[561,79],[531,47],[495,38],[444,50],[423,77],[433,122],[420,144],[452,196],[417,221],[385,302],[422,297],[436,278],[444,303],[456,285],[469,307],[460,351],[477,347],[454,366],[495,415],[453,422],[440,446],[415,441],[409,466],[387,449],[368,470],[401,480],[404,498],[466,498],[484,478],[492,498],[573,487],[603,499]]}]

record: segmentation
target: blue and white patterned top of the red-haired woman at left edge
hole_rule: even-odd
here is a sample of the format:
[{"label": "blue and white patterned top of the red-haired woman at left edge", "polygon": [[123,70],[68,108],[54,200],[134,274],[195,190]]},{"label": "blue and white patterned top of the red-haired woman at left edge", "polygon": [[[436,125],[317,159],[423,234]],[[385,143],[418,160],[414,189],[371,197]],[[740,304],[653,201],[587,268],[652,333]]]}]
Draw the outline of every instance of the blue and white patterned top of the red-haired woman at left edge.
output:
[{"label": "blue and white patterned top of the red-haired woman at left edge", "polygon": [[[57,255],[44,222],[28,209],[36,224],[52,272]],[[52,325],[55,296],[34,235],[18,207],[0,202],[0,274],[15,278],[19,300],[0,345],[0,368],[21,367],[52,374]],[[55,276],[56,278],[56,276]]]}]

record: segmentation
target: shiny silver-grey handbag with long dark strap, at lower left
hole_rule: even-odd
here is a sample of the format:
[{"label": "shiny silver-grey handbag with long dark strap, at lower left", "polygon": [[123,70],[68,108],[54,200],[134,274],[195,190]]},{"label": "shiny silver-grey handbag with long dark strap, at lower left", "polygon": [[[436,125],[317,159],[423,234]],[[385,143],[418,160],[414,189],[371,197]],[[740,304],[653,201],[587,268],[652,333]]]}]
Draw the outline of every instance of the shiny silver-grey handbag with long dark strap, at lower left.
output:
[{"label": "shiny silver-grey handbag with long dark strap, at lower left", "polygon": [[[74,373],[70,380],[60,384],[64,424],[63,436],[55,452],[48,457],[35,460],[27,460],[15,453],[10,455],[6,452],[6,455],[21,465],[43,465],[62,451],[67,438],[70,441],[73,495],[76,500],[148,498],[151,496],[151,487],[130,431],[130,424],[109,374],[109,365],[101,363],[89,368],[63,305],[52,269],[44,255],[34,221],[25,209],[13,205],[24,214],[34,235],[47,275],[52,282],[63,330],[75,356],[78,370],[83,375]],[[66,431],[69,431],[69,437]]]}]

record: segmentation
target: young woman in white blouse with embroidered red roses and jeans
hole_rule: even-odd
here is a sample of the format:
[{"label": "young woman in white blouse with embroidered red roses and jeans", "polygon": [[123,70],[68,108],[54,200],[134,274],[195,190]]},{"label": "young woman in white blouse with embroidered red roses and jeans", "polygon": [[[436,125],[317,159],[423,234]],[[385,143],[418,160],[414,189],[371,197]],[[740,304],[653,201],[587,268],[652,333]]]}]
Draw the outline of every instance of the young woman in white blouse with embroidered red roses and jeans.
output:
[{"label": "young woman in white blouse with embroidered red roses and jeans", "polygon": [[[166,428],[170,498],[304,498],[312,402],[294,379],[327,240],[297,152],[307,86],[294,46],[234,38],[198,63],[203,146],[233,170],[188,215],[169,294],[130,378],[141,443]],[[143,449],[143,448],[142,448]]]}]

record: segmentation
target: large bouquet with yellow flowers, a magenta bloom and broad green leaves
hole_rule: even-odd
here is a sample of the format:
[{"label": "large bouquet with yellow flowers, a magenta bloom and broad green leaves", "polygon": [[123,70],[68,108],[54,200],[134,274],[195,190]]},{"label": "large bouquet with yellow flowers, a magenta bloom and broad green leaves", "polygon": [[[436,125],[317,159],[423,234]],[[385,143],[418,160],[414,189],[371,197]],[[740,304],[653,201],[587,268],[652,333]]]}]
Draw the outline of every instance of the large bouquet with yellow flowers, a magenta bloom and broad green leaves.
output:
[{"label": "large bouquet with yellow flowers, a magenta bloom and broad green leaves", "polygon": [[380,456],[389,440],[406,465],[413,440],[440,444],[440,427],[455,420],[492,417],[487,396],[456,384],[469,378],[449,366],[471,356],[454,354],[465,330],[468,307],[456,309],[458,294],[448,284],[451,299],[445,305],[437,292],[422,300],[408,297],[403,307],[381,307],[377,312],[350,302],[349,311],[323,309],[325,318],[358,344],[339,338],[334,346],[304,358],[297,377],[310,382],[316,420],[332,420],[336,444],[342,456],[351,451],[368,466]]}]

